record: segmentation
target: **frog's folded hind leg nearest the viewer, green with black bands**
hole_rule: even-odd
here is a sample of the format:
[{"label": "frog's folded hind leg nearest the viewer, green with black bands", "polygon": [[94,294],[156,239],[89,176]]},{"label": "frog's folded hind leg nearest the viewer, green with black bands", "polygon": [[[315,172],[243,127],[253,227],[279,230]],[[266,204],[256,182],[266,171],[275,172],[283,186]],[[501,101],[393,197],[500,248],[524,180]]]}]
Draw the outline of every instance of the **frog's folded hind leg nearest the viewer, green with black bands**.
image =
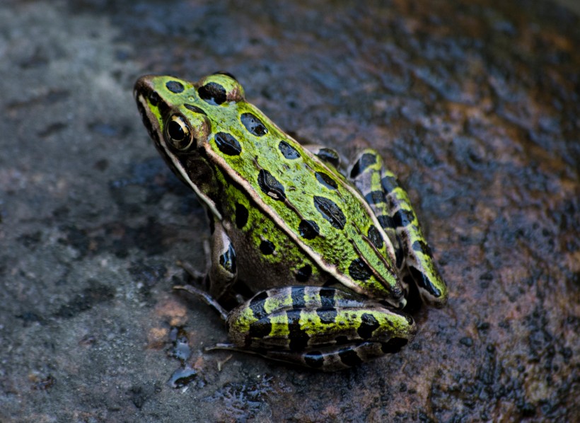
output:
[{"label": "frog's folded hind leg nearest the viewer, green with black bands", "polygon": [[286,286],[255,295],[228,314],[236,349],[323,371],[398,352],[416,328],[410,315],[340,289]]}]

